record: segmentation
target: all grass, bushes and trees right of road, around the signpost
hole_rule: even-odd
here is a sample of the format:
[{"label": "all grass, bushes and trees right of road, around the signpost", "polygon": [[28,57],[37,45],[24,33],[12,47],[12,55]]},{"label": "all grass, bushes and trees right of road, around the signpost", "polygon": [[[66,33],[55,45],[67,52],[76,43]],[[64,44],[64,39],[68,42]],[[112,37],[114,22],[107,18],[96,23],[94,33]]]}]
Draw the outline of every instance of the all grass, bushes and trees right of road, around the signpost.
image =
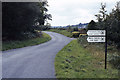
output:
[{"label": "all grass, bushes and trees right of road, around the signpost", "polygon": [[[86,29],[65,28],[77,37],[65,46],[55,58],[57,78],[118,78],[120,72],[120,2],[109,14],[106,4],[96,14],[97,22],[91,20]],[[105,44],[88,43],[87,30],[107,31],[107,69],[104,69]],[[74,32],[73,32],[74,31]],[[77,31],[77,32],[76,32]],[[73,36],[74,35],[74,36]]]}]

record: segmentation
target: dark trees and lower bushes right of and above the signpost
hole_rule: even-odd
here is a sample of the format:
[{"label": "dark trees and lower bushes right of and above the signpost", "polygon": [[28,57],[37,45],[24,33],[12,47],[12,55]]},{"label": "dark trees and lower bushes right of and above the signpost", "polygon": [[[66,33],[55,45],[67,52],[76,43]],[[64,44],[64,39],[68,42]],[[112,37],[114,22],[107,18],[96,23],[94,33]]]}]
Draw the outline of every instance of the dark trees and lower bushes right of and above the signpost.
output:
[{"label": "dark trees and lower bushes right of and above the signpost", "polygon": [[[108,50],[111,50],[111,64],[120,70],[120,1],[110,13],[107,13],[106,4],[101,3],[99,13],[95,15],[97,22],[91,20],[88,30],[106,30]],[[118,52],[114,51],[115,49]],[[108,55],[109,56],[109,55]]]}]

